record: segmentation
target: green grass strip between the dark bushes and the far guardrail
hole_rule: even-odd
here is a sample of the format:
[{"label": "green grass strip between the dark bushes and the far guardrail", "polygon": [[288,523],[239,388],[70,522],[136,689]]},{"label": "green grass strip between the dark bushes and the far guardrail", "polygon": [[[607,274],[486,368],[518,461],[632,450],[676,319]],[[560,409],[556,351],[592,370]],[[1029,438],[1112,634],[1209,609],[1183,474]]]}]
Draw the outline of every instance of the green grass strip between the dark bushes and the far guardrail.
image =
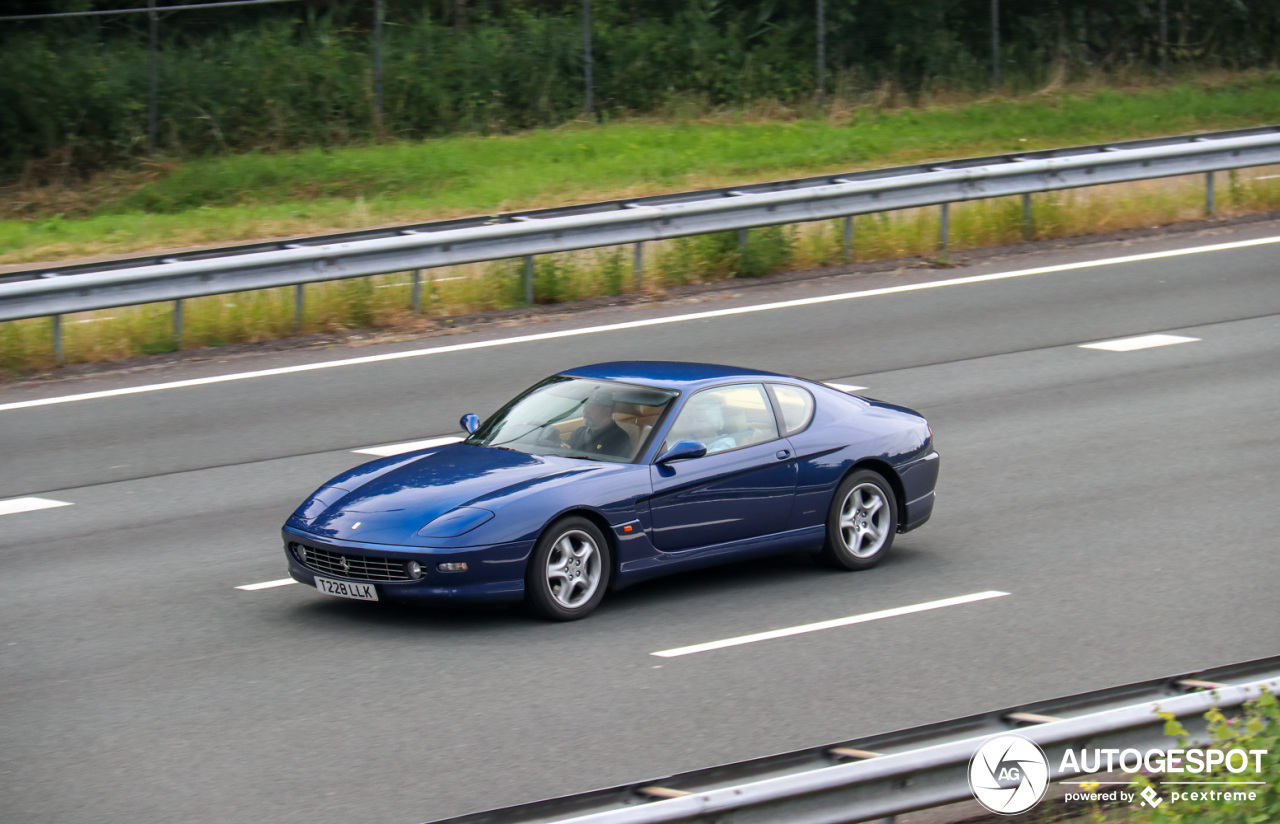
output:
[{"label": "green grass strip between the dark bushes and the far guardrail", "polygon": [[0,264],[317,233],[460,214],[1280,120],[1280,74],[1135,92],[833,111],[826,119],[571,124],[160,164],[0,197]]}]

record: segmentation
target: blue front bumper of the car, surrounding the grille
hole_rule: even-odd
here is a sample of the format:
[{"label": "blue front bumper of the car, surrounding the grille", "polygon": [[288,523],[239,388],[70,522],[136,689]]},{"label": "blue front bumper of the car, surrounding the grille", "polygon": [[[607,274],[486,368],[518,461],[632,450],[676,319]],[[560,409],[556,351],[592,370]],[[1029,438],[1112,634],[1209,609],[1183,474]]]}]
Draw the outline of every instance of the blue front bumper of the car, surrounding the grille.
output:
[{"label": "blue front bumper of the car, surrounding the grille", "polygon": [[[534,548],[532,541],[467,546],[466,549],[401,548],[385,544],[332,541],[292,527],[284,527],[282,537],[284,539],[284,557],[288,559],[289,576],[294,581],[314,587],[319,574],[335,581],[372,583],[378,590],[379,600],[393,601],[518,601],[525,595],[525,568]],[[380,567],[394,567],[399,562],[416,560],[421,564],[424,574],[417,581],[384,581],[343,574],[340,571],[316,569],[298,558],[293,550],[296,544],[337,553],[340,557],[389,562],[379,563]],[[467,569],[465,572],[440,572],[439,564],[442,563],[465,563]]]}]

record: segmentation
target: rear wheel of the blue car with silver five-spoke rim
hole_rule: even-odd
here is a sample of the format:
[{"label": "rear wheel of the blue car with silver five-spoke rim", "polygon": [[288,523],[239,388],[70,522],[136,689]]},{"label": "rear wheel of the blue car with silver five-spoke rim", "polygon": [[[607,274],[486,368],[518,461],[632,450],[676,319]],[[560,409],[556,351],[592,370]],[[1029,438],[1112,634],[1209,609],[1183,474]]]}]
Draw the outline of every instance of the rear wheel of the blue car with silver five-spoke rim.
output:
[{"label": "rear wheel of the blue car with silver five-spoke rim", "polygon": [[897,498],[879,473],[851,473],[831,499],[827,512],[827,541],[822,557],[844,569],[869,569],[890,548],[897,532]]}]

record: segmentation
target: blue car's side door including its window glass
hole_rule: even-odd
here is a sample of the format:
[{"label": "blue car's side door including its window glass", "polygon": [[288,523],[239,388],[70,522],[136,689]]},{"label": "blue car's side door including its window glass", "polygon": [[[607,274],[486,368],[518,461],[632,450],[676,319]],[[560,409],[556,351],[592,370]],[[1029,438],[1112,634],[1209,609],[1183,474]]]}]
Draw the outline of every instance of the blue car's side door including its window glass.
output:
[{"label": "blue car's side door including its window glass", "polygon": [[707,454],[649,467],[654,546],[691,550],[786,528],[796,464],[762,384],[717,386],[690,398],[659,454],[682,440],[705,444]]}]

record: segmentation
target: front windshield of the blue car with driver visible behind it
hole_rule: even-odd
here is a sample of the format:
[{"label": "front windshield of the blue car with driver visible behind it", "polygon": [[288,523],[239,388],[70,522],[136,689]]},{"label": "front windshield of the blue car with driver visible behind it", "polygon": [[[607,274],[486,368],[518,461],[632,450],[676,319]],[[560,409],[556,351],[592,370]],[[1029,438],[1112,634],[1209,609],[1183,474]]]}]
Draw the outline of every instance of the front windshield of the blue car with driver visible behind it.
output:
[{"label": "front windshield of the blue car with driver visible behind it", "polygon": [[466,443],[535,456],[627,463],[675,392],[557,375],[499,409]]}]

